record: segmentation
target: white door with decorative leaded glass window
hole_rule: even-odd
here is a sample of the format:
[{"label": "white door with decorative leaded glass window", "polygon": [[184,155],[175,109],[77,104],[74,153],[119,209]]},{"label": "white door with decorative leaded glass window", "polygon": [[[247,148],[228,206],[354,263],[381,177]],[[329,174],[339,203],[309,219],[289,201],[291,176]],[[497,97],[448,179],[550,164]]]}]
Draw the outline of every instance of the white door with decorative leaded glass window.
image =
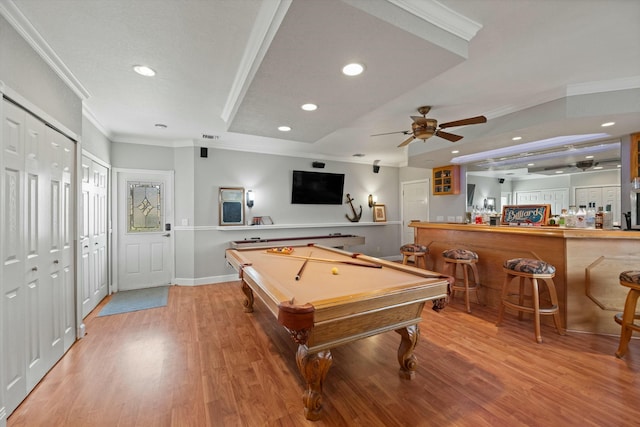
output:
[{"label": "white door with decorative leaded glass window", "polygon": [[173,173],[117,173],[118,290],[171,283]]}]

